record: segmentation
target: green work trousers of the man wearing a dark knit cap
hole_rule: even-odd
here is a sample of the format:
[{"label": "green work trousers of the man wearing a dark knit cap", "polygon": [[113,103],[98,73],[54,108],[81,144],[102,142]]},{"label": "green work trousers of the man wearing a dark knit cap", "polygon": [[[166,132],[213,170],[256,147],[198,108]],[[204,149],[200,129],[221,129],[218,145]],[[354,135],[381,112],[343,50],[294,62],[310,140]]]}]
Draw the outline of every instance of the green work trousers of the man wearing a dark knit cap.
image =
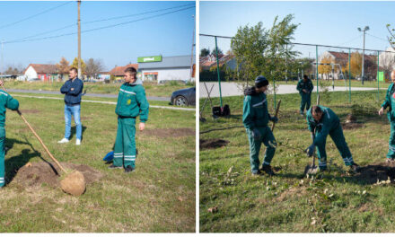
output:
[{"label": "green work trousers of the man wearing a dark knit cap", "polygon": [[255,140],[252,136],[252,131],[247,128],[247,135],[250,142],[250,166],[252,172],[259,171],[259,150],[262,143],[267,147],[264,162],[262,165],[269,165],[276,152],[276,138],[268,126],[257,127],[260,132],[260,139]]}]

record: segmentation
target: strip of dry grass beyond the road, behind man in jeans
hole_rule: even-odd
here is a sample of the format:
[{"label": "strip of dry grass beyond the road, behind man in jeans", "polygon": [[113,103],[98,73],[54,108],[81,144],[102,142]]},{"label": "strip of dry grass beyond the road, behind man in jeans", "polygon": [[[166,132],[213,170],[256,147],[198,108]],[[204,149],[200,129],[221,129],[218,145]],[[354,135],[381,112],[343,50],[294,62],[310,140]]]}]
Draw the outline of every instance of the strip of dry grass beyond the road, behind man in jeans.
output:
[{"label": "strip of dry grass beyond the road, behind man in jeans", "polygon": [[[59,91],[64,83],[27,83],[19,81],[5,82],[5,88],[22,89],[22,90],[42,90],[42,91]],[[83,83],[83,90],[87,89],[87,93],[113,93],[117,94],[122,83]],[[170,97],[171,92],[189,88],[194,85],[186,85],[183,83],[150,83],[145,82],[144,88],[147,96]]]}]

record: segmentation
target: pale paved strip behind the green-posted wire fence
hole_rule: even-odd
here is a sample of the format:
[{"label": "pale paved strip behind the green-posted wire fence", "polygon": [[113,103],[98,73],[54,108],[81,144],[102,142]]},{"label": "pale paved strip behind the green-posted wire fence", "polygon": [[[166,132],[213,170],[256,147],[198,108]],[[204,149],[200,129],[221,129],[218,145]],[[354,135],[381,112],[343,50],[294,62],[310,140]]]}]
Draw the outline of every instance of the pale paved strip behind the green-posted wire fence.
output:
[{"label": "pale paved strip behind the green-posted wire fence", "polygon": [[[205,88],[204,83],[199,83],[200,85],[200,90],[199,90],[199,96],[200,98],[206,98],[207,97],[207,92]],[[218,83],[206,83],[206,87],[208,92],[210,92],[211,87],[213,87],[213,91],[210,93],[211,97],[219,97],[219,89],[218,89]],[[270,89],[270,85],[269,85]],[[320,88],[320,90],[322,90]],[[348,87],[345,86],[335,86],[335,90],[332,89],[332,86],[329,86],[329,92],[345,92],[348,90]],[[371,87],[352,87],[351,91],[372,91],[372,90],[377,90],[377,88],[371,88]],[[386,90],[386,89],[382,89]],[[316,91],[316,88],[314,86],[314,91]],[[242,95],[242,87],[241,84],[238,83],[221,83],[221,93],[222,96],[235,96],[235,95]],[[298,93],[296,90],[296,85],[293,84],[280,84],[277,87],[277,94],[286,94],[286,93]]]}]

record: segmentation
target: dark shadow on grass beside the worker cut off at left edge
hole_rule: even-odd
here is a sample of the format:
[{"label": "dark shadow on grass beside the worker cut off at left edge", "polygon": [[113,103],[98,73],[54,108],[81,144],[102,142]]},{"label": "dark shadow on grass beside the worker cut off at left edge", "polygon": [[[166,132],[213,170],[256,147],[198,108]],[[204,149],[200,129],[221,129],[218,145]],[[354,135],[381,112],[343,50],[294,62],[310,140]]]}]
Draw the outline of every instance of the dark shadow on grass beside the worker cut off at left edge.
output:
[{"label": "dark shadow on grass beside the worker cut off at left edge", "polygon": [[48,165],[51,167],[52,171],[54,171],[57,175],[57,170],[54,168],[54,166],[46,161],[44,158],[42,158],[40,152],[36,151],[34,147],[29,143],[27,138],[25,137],[26,142],[22,142],[16,139],[8,139],[5,138],[5,154],[13,148],[14,144],[23,144],[23,145],[29,145],[31,146],[31,149],[23,149],[21,154],[14,155],[13,157],[10,158],[5,158],[4,161],[4,168],[5,168],[5,185],[9,184],[13,178],[16,176],[18,173],[19,169],[21,169],[27,162],[31,160],[31,158],[34,157],[40,157],[40,159],[43,162],[47,162]]}]

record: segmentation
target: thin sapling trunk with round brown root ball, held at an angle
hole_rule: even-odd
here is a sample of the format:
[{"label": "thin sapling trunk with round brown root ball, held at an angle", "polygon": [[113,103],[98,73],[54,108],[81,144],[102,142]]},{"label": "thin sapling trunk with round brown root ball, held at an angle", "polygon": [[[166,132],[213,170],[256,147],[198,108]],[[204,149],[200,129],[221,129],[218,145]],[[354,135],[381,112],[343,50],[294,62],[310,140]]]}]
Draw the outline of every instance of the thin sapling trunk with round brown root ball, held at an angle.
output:
[{"label": "thin sapling trunk with round brown root ball, held at an angle", "polygon": [[[3,90],[6,92],[4,85],[2,85]],[[60,162],[57,162],[57,159],[49,152],[47,145],[45,145],[40,136],[34,131],[33,127],[29,124],[29,122],[24,118],[22,115],[22,112],[20,110],[16,110],[16,112],[21,116],[25,124],[31,129],[31,132],[33,133],[34,136],[39,140],[40,144],[42,147],[44,147],[44,150],[47,152],[49,157],[57,163],[57,166],[60,168],[60,170],[64,171],[66,173],[65,179],[60,181],[60,187],[62,190],[64,190],[66,193],[69,193],[74,196],[80,196],[83,194],[85,191],[85,179],[83,177],[83,173],[80,171],[72,171],[72,172],[67,172],[65,168],[60,164]]]}]

